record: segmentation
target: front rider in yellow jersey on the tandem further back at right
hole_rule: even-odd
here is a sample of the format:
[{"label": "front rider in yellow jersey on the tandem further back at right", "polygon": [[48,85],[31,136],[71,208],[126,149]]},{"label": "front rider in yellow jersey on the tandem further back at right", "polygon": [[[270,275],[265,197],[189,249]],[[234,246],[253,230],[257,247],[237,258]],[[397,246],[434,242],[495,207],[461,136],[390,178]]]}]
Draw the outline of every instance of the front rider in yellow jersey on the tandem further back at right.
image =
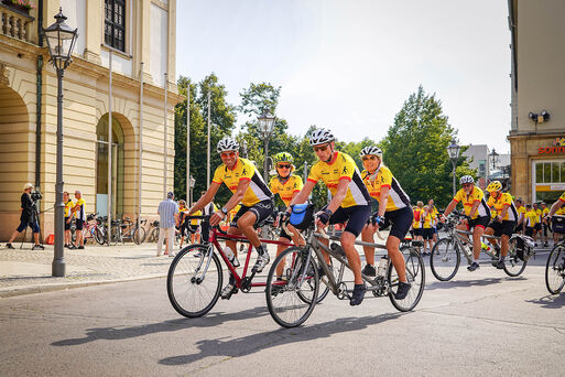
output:
[{"label": "front rider in yellow jersey on the tandem further back at right", "polygon": [[487,205],[487,201],[485,201],[485,194],[482,190],[475,186],[475,180],[470,175],[464,175],[459,180],[459,184],[463,186],[461,190],[457,192],[453,201],[445,208],[444,216],[442,217],[445,220],[445,216],[449,215],[452,211],[455,209],[457,203],[461,203],[465,209],[465,215],[467,215],[468,219],[463,220],[459,225],[457,225],[457,229],[459,230],[469,230],[472,229],[472,263],[467,267],[467,270],[475,271],[479,268],[479,255],[481,249],[480,237],[482,233],[485,233],[485,228],[489,224],[490,220],[490,209]]}]

